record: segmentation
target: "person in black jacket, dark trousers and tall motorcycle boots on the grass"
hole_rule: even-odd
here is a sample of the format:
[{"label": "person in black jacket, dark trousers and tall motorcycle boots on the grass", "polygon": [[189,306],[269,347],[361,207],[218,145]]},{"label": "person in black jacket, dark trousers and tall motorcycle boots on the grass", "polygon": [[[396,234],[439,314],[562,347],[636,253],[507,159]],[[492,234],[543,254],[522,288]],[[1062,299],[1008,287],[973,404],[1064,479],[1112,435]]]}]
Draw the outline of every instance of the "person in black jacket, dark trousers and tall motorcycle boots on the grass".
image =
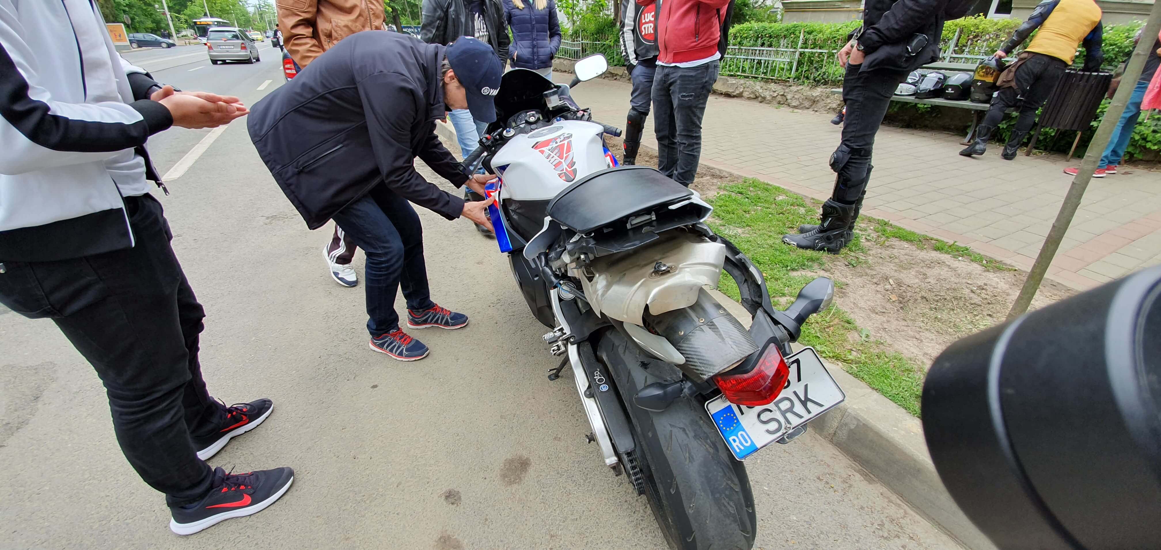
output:
[{"label": "person in black jacket, dark trousers and tall motorcycle boots on the grass", "polygon": [[939,57],[947,0],[867,0],[863,27],[838,52],[846,103],[843,138],[830,157],[835,190],[822,204],[822,222],[803,225],[783,243],[838,253],[854,236],[871,178],[871,149],[895,88],[907,73]]}]

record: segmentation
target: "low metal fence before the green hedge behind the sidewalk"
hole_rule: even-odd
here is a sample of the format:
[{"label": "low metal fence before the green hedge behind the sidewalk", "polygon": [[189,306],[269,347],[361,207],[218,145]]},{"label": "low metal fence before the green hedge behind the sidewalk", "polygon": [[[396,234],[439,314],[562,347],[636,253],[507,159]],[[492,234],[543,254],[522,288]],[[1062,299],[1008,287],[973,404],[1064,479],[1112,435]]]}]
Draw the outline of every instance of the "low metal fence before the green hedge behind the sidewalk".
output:
[{"label": "low metal fence before the green hedge behind the sidewalk", "polygon": [[[993,44],[960,44],[960,30],[940,44],[939,60],[975,65],[988,58],[995,50]],[[604,53],[610,65],[623,63],[618,37],[582,36],[570,34],[561,41],[556,57],[580,59],[593,53]],[[843,80],[843,68],[835,55],[842,44],[817,44],[805,31],[795,38],[783,38],[777,45],[731,44],[722,59],[721,74],[767,80],[789,80],[805,84],[838,84]]]}]

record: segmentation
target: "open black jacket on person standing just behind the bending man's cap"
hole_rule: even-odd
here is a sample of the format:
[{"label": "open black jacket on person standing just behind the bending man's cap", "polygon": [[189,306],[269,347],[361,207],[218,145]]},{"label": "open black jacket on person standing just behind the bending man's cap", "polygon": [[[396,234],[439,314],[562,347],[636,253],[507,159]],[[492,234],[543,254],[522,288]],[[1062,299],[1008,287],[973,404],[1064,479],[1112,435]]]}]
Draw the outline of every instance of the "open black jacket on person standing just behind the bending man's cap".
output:
[{"label": "open black jacket on person standing just behind the bending man's cap", "polygon": [[[428,44],[448,45],[461,36],[476,36],[475,15],[468,8],[469,0],[424,0],[423,26],[419,37]],[[500,0],[483,0],[488,17],[488,41],[500,58],[500,64],[507,64],[509,43],[507,22],[504,19],[504,5]]]}]

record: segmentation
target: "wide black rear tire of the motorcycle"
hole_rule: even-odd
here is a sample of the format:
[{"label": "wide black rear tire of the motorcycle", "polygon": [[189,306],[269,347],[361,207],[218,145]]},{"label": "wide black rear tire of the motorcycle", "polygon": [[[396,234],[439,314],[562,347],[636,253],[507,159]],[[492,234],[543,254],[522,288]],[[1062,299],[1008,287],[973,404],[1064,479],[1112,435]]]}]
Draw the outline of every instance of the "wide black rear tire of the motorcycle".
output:
[{"label": "wide black rear tire of the motorcycle", "polygon": [[[615,331],[605,333],[600,347],[605,354],[623,357],[623,364],[608,368],[627,404],[646,497],[669,547],[750,550],[758,526],[750,478],[745,465],[726,448],[705,404],[697,398],[679,398],[662,412],[633,405],[639,389],[676,379],[680,371],[646,356]],[[648,369],[640,367],[643,362]]]}]

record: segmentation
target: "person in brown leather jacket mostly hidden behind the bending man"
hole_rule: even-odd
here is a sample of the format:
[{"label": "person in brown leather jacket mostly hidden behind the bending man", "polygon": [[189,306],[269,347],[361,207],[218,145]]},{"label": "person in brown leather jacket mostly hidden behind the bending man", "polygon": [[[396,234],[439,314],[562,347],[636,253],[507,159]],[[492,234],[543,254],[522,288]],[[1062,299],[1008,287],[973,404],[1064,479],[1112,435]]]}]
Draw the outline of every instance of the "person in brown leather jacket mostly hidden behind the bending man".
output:
[{"label": "person in brown leather jacket mostly hidden behind the bending man", "polygon": [[[305,68],[339,41],[362,30],[382,30],[380,0],[277,0],[282,45],[290,58]],[[344,287],[359,284],[351,260],[355,244],[334,225],[334,234],[323,247],[331,278]]]}]

